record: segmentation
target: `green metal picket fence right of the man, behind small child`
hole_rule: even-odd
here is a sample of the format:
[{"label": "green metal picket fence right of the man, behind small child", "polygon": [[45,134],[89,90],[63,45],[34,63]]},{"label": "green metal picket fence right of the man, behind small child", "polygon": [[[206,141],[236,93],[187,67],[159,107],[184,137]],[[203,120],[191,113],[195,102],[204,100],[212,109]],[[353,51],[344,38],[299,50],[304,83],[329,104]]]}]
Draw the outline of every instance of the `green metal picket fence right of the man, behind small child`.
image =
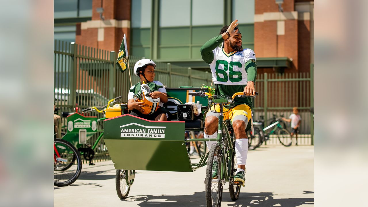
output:
[{"label": "green metal picket fence right of the man, behind small child", "polygon": [[313,72],[314,65],[311,64],[309,73],[258,74],[255,88],[259,95],[254,99],[254,119],[264,116],[267,120],[273,114],[289,118],[293,107],[298,107],[302,118],[300,134],[310,134],[308,143],[313,145]]}]

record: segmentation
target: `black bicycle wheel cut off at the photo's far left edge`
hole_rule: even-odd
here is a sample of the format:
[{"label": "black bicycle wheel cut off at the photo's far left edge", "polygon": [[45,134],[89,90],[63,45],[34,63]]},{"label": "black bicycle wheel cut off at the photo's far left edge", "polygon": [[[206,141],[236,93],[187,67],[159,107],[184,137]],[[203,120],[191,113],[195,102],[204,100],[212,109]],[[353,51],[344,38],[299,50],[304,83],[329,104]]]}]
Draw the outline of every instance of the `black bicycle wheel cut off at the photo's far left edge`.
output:
[{"label": "black bicycle wheel cut off at the photo's far left edge", "polygon": [[54,140],[54,185],[68,186],[78,179],[82,159],[78,150],[68,141]]}]

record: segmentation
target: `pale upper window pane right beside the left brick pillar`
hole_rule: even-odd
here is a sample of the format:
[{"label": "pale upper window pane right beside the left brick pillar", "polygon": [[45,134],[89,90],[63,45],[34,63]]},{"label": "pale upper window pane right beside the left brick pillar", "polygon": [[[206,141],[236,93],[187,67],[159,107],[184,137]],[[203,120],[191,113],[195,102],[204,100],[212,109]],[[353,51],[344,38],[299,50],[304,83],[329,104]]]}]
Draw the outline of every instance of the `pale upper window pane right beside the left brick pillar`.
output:
[{"label": "pale upper window pane right beside the left brick pillar", "polygon": [[132,28],[150,28],[152,17],[151,0],[132,1]]}]

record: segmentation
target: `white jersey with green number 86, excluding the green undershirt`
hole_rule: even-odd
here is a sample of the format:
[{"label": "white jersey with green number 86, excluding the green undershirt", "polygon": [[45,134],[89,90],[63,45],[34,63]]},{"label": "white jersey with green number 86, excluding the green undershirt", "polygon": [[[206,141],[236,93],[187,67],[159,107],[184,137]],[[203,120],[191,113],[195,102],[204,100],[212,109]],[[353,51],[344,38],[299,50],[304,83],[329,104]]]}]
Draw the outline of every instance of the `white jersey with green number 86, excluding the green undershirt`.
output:
[{"label": "white jersey with green number 86, excluding the green undershirt", "polygon": [[[214,58],[209,64],[212,80],[215,84],[246,85],[248,82],[245,65],[248,60],[255,62],[255,53],[251,49],[234,51],[227,54],[223,48],[212,50]],[[239,92],[239,91],[238,91]]]}]

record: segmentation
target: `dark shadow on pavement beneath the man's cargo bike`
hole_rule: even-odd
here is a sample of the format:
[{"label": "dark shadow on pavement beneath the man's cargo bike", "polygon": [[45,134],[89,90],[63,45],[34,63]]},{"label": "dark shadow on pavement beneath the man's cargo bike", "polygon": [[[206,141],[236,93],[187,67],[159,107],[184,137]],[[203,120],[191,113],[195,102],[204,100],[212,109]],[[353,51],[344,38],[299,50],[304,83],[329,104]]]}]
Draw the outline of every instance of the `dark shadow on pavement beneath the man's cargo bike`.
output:
[{"label": "dark shadow on pavement beneath the man's cargo bike", "polygon": [[[314,193],[310,191],[304,191],[303,194]],[[231,207],[297,207],[302,204],[314,204],[314,198],[288,198],[288,199],[274,199],[273,193],[262,192],[262,193],[240,193],[239,199],[232,201],[230,199],[229,193],[224,192],[222,196],[222,201],[233,202],[233,204],[227,204]],[[180,195],[180,196],[130,196],[123,202],[130,201],[142,201],[138,204],[141,207],[198,207],[206,206],[205,192],[196,192],[193,195]],[[225,206],[222,203],[222,206]]]}]

